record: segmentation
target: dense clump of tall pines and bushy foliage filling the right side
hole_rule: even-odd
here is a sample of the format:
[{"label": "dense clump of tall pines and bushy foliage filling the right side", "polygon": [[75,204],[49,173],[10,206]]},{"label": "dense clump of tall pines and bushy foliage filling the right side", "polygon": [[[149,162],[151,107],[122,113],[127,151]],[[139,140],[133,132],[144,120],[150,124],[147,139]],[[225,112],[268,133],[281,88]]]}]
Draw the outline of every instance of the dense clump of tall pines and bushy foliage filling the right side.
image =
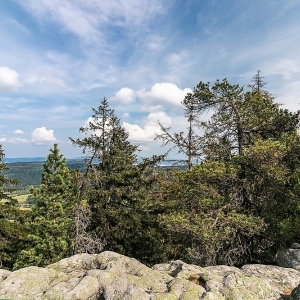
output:
[{"label": "dense clump of tall pines and bushy foliage filling the right side", "polygon": [[264,85],[258,73],[247,92],[224,79],[200,82],[185,97],[185,107],[198,109],[203,135],[193,146],[203,160],[159,186],[161,224],[177,256],[272,261],[278,247],[299,240],[299,112],[281,109]]}]

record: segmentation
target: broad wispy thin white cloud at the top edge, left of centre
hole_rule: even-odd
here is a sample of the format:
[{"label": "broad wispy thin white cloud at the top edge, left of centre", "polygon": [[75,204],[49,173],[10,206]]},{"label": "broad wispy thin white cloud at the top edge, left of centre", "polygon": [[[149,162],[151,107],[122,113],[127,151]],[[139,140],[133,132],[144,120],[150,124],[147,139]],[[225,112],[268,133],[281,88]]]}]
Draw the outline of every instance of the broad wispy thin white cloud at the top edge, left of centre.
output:
[{"label": "broad wispy thin white cloud at the top edge, left of centre", "polygon": [[103,40],[104,27],[143,27],[146,20],[165,10],[158,0],[18,2],[41,22],[52,19],[88,43]]}]

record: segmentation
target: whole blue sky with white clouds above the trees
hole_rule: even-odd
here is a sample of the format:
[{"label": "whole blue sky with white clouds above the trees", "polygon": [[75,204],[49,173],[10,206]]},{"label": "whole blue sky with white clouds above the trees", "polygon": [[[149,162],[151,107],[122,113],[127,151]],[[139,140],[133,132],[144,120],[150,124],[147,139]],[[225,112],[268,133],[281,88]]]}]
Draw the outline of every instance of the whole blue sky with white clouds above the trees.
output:
[{"label": "whole blue sky with white clouds above the trees", "polygon": [[107,97],[142,156],[157,121],[185,128],[180,101],[201,81],[247,85],[259,69],[291,111],[300,103],[299,0],[0,1],[0,143],[46,156]]}]

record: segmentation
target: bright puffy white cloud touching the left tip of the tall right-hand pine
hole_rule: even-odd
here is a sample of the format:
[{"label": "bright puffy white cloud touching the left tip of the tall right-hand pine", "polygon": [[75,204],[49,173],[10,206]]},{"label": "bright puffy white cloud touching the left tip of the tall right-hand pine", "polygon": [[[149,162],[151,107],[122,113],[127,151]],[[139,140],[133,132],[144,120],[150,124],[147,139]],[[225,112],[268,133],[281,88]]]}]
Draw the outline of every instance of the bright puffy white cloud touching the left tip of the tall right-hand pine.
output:
[{"label": "bright puffy white cloud touching the left tip of the tall right-hand pine", "polygon": [[166,103],[176,106],[181,106],[181,101],[184,99],[187,93],[192,92],[191,89],[180,89],[174,83],[156,83],[150,91],[140,90],[137,95],[143,102],[151,103],[157,102],[159,104]]}]

